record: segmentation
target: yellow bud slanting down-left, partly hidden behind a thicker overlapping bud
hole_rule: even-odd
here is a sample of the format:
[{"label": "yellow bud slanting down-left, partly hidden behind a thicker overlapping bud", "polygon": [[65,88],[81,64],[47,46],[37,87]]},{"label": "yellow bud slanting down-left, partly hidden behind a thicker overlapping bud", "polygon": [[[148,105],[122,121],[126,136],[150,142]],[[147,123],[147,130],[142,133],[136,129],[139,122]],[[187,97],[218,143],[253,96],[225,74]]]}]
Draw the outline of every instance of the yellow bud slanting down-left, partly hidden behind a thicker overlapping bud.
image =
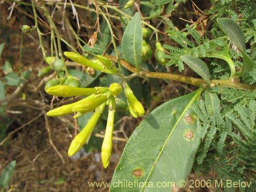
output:
[{"label": "yellow bud slanting down-left, partly hidden behind a thicker overlapping bud", "polygon": [[78,105],[80,103],[86,102],[87,100],[93,99],[95,98],[95,95],[90,95],[84,99],[81,99],[77,102],[71,103],[71,104],[65,104],[60,106],[59,108],[56,108],[54,110],[51,110],[49,112],[46,113],[47,116],[51,116],[51,117],[56,117],[56,116],[62,116],[62,115],[67,115],[72,113],[73,111],[73,107],[75,105]]}]

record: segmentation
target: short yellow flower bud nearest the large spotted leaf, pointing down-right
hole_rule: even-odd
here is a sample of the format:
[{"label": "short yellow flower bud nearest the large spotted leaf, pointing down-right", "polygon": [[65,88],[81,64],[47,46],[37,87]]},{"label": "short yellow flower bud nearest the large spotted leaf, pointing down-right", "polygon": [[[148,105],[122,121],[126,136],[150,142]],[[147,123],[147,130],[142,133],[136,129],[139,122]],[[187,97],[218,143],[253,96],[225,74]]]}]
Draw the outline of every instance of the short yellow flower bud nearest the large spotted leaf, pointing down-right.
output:
[{"label": "short yellow flower bud nearest the large spotted leaf, pointing down-right", "polygon": [[129,111],[133,117],[137,118],[138,116],[143,116],[145,111],[143,105],[140,101],[135,97],[133,91],[129,87],[129,85],[125,82],[124,83],[124,94],[127,98],[127,103],[129,106]]}]

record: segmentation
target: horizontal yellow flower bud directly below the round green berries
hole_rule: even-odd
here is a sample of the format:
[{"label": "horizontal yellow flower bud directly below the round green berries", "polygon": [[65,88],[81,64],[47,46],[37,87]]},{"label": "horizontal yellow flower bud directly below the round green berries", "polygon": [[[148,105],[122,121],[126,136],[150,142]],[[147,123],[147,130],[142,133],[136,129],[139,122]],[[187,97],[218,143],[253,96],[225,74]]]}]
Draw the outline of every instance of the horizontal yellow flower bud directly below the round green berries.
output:
[{"label": "horizontal yellow flower bud directly below the round green berries", "polygon": [[91,95],[105,93],[108,88],[96,87],[96,88],[75,88],[71,86],[58,85],[46,89],[46,92],[50,95],[55,95],[57,97],[70,97],[79,95]]}]

